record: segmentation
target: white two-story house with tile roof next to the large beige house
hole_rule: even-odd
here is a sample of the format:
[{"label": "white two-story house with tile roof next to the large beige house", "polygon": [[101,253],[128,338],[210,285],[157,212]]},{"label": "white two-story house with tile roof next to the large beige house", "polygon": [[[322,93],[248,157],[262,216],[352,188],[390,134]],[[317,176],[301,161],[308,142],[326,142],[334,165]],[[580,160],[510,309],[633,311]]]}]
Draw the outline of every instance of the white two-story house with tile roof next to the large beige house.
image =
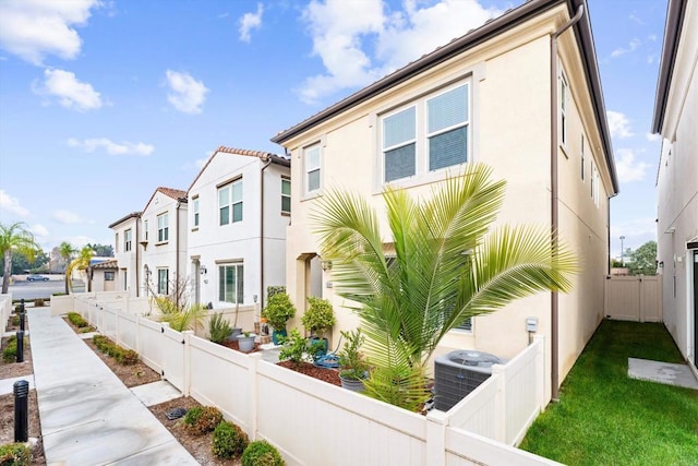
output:
[{"label": "white two-story house with tile roof next to the large beige house", "polygon": [[290,162],[220,146],[189,189],[188,264],[196,302],[264,307],[286,283]]}]

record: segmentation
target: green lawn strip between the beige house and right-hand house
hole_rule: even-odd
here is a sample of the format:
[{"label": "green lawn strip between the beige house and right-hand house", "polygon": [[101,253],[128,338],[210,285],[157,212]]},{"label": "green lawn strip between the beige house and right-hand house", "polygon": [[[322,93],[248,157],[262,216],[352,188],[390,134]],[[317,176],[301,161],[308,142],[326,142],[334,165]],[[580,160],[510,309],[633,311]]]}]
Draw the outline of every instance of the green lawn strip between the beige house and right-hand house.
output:
[{"label": "green lawn strip between the beige house and right-hand house", "polygon": [[628,379],[683,363],[663,324],[603,321],[520,447],[568,465],[698,465],[698,391]]}]

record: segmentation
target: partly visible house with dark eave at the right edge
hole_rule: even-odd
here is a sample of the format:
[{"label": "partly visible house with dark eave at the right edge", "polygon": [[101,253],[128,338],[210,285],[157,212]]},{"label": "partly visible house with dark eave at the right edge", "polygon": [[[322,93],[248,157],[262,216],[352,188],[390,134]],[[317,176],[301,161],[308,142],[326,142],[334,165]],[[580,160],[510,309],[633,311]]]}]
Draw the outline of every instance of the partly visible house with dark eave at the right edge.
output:
[{"label": "partly visible house with dark eave at the right edge", "polygon": [[698,4],[670,0],[652,132],[662,136],[657,176],[663,320],[698,374]]}]

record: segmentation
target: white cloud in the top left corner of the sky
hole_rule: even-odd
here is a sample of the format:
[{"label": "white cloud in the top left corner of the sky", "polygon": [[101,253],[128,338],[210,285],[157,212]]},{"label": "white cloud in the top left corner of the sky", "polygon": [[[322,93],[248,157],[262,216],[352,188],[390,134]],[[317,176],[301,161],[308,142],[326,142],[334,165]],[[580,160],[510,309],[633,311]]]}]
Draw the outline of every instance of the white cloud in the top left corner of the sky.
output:
[{"label": "white cloud in the top left corner of the sky", "polygon": [[0,48],[40,65],[49,55],[77,57],[82,40],[74,26],[87,23],[99,0],[0,1]]}]

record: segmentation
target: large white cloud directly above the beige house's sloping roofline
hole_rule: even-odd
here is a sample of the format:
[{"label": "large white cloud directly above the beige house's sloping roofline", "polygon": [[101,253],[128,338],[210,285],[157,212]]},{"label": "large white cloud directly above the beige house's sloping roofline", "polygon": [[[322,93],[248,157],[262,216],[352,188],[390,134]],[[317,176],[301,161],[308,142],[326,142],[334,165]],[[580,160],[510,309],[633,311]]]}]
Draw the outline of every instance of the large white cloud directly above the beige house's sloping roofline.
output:
[{"label": "large white cloud directly above the beige house's sloping roofline", "polygon": [[389,12],[381,0],[312,0],[303,11],[313,56],[325,72],[299,89],[305,103],[344,88],[363,86],[501,14],[476,1],[442,0],[419,8],[405,2]]}]

